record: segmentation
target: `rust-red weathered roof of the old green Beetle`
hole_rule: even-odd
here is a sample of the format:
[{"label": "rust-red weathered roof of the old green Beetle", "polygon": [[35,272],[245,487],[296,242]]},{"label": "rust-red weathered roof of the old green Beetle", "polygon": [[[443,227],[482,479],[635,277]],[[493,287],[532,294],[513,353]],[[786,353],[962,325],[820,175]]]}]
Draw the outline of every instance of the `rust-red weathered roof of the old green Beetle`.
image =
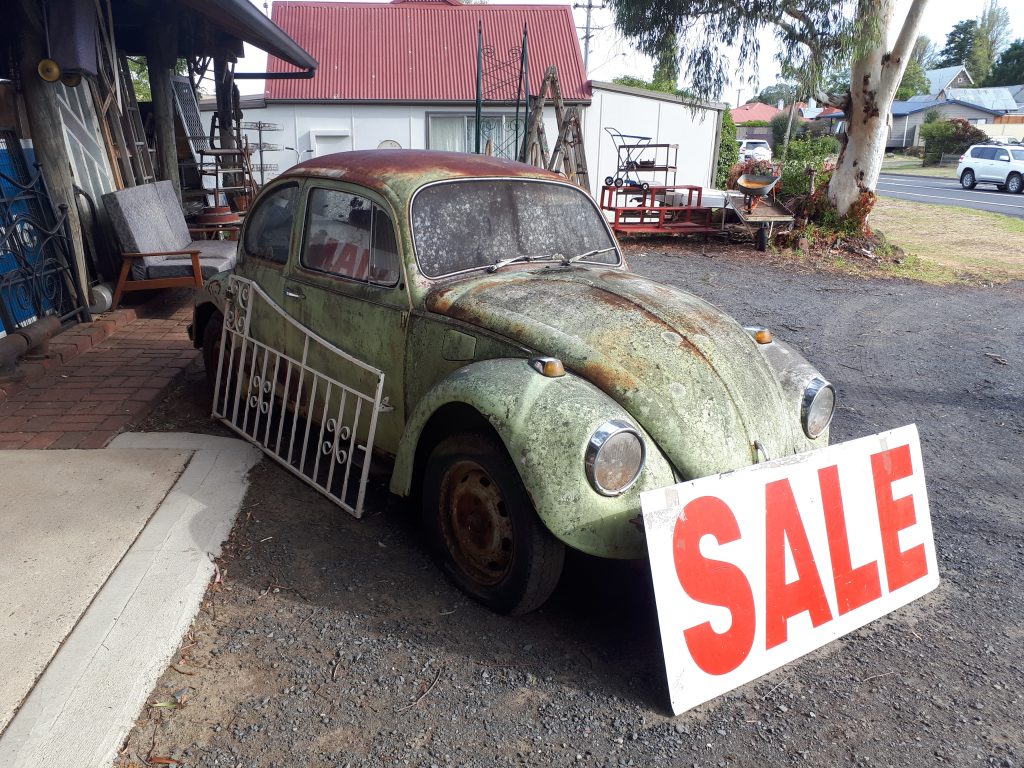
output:
[{"label": "rust-red weathered roof of the old green Beetle", "polygon": [[564,180],[543,168],[511,160],[460,152],[430,150],[362,150],[325,155],[300,163],[282,177],[315,177],[351,181],[396,197],[432,181],[452,178],[515,177]]}]

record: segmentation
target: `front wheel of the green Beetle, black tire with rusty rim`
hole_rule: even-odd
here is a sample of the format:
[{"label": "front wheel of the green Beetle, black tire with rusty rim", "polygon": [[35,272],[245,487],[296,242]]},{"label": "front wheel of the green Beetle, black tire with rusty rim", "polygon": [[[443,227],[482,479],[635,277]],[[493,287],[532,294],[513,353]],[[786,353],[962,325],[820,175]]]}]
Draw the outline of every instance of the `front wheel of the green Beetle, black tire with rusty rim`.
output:
[{"label": "front wheel of the green Beetle, black tire with rusty rim", "polygon": [[422,520],[456,585],[498,613],[527,613],[551,596],[565,546],[544,527],[505,446],[458,434],[427,460]]}]

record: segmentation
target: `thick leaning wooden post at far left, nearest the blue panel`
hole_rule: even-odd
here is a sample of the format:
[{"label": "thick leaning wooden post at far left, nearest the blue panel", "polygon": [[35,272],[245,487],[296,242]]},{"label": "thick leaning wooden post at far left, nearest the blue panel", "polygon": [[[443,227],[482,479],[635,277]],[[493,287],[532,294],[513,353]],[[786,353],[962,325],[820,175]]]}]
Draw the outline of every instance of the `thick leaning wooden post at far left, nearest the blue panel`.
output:
[{"label": "thick leaning wooden post at far left, nearest the blue panel", "polygon": [[[32,146],[36,160],[43,167],[43,176],[49,188],[54,213],[63,205],[68,207],[68,236],[79,285],[84,286],[92,302],[89,287],[89,271],[85,264],[85,249],[82,246],[82,222],[78,216],[75,200],[75,176],[72,173],[71,158],[63,137],[63,122],[57,105],[54,83],[44,82],[36,72],[40,59],[46,56],[46,41],[43,37],[43,22],[39,6],[23,0],[20,32],[20,76],[25,103],[32,128]],[[80,86],[81,87],[81,86]]]}]

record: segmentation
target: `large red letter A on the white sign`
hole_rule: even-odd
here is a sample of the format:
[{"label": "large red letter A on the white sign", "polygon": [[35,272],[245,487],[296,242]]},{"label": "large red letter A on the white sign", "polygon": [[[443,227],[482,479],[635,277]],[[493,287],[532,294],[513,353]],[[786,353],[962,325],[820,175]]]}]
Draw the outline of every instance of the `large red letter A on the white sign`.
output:
[{"label": "large red letter A on the white sign", "polygon": [[[797,580],[785,582],[785,547],[797,567]],[[788,480],[765,485],[765,647],[786,639],[786,622],[804,611],[819,627],[831,620],[831,610],[814,562],[807,531]]]}]

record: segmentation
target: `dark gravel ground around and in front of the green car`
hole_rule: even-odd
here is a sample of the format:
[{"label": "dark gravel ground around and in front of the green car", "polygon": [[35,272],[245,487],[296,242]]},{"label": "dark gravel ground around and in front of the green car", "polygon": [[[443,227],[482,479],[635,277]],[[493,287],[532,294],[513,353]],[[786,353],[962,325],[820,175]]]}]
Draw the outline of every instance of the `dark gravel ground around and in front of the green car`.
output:
[{"label": "dark gravel ground around and in front of the green car", "polygon": [[[382,486],[357,521],[264,461],[123,765],[1024,762],[1024,285],[795,269],[749,246],[631,251],[802,348],[837,385],[834,440],[918,424],[940,587],[673,718],[643,568],[572,557],[544,609],[497,616]],[[138,428],[221,431],[201,376]]]}]

